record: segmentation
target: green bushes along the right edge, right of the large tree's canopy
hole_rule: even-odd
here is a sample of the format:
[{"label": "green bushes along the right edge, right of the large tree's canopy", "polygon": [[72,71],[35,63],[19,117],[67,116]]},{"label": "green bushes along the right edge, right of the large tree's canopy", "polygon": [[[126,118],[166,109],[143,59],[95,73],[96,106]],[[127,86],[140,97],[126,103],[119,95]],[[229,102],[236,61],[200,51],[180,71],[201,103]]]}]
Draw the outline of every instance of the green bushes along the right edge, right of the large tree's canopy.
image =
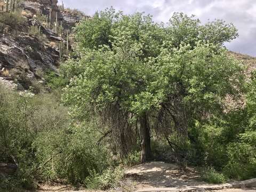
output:
[{"label": "green bushes along the right edge, right of the large tree's canopy", "polygon": [[[224,172],[230,178],[251,179],[256,177],[256,132],[255,132],[255,103],[256,103],[256,78],[255,71],[251,75],[251,81],[247,84],[246,116],[247,124],[242,132],[238,132],[236,140],[228,145],[228,163]],[[237,123],[237,125],[244,125]]]}]

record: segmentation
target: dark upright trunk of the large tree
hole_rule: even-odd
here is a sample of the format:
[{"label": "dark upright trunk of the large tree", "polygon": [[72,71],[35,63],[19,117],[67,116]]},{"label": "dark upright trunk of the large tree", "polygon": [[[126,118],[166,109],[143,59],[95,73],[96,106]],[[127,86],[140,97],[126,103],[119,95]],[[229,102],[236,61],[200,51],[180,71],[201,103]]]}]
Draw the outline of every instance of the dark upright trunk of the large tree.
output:
[{"label": "dark upright trunk of the large tree", "polygon": [[150,127],[148,124],[147,115],[144,114],[140,118],[140,137],[141,137],[141,163],[149,161],[151,158],[151,146],[150,146]]}]

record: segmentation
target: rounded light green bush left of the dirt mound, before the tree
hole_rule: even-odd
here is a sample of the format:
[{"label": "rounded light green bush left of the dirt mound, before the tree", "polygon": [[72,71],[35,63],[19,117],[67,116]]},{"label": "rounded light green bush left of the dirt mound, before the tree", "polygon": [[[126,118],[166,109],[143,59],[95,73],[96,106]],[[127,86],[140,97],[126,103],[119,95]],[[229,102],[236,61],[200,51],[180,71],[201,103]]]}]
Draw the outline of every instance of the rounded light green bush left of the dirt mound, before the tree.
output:
[{"label": "rounded light green bush left of the dirt mound, before the tree", "polygon": [[91,125],[47,131],[39,134],[33,146],[43,180],[66,179],[83,183],[92,172],[102,174],[109,164],[104,147],[97,144]]}]

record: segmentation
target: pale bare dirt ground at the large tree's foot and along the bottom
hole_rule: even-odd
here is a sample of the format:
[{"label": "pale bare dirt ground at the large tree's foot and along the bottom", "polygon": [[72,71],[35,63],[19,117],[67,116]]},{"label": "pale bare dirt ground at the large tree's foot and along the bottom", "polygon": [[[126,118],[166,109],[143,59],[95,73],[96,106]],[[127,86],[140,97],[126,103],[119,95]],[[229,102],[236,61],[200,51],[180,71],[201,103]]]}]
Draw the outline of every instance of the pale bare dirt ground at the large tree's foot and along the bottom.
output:
[{"label": "pale bare dirt ground at the large tree's foot and along the bottom", "polygon": [[[189,186],[202,186],[207,183],[201,181],[199,173],[193,168],[180,171],[174,164],[151,162],[130,167],[125,170],[126,179],[123,187],[108,192],[130,192],[148,188],[186,188]],[[42,185],[37,190],[47,192],[102,192],[100,190],[74,189],[71,186]],[[254,189],[225,189],[216,192],[256,192]],[[105,191],[106,192],[106,191]],[[213,192],[213,191],[212,191]],[[215,192],[215,191],[214,191]]]}]

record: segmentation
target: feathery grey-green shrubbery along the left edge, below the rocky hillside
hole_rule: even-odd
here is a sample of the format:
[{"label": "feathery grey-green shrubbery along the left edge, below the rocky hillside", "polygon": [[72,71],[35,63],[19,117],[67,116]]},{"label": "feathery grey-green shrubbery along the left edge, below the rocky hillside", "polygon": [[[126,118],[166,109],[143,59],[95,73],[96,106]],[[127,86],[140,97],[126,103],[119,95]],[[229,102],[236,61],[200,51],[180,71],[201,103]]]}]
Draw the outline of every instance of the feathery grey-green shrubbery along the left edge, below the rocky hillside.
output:
[{"label": "feathery grey-green shrubbery along the left edge, below the rocky hillside", "polygon": [[0,162],[15,160],[19,165],[17,173],[1,179],[0,186],[9,191],[33,188],[36,162],[32,144],[39,132],[65,127],[67,111],[54,95],[19,95],[0,85],[0,98]]}]

